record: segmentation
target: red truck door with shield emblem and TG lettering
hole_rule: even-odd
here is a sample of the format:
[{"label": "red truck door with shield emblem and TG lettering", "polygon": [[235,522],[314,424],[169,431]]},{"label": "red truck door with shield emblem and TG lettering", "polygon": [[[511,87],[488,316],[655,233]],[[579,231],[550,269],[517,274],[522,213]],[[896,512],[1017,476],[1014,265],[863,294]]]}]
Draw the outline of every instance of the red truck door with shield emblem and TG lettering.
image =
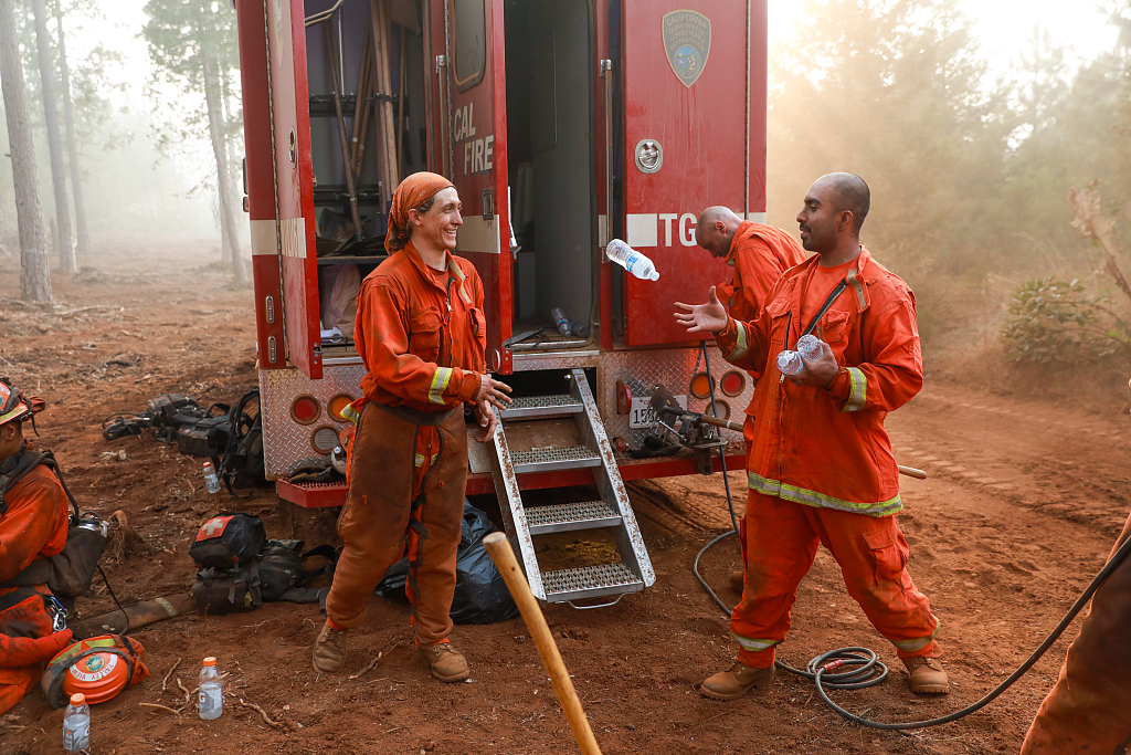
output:
[{"label": "red truck door with shield emblem and TG lettering", "polygon": [[624,240],[659,272],[658,281],[624,274],[624,343],[685,343],[673,302],[706,301],[732,277],[696,246],[699,213],[744,212],[746,0],[622,7]]}]

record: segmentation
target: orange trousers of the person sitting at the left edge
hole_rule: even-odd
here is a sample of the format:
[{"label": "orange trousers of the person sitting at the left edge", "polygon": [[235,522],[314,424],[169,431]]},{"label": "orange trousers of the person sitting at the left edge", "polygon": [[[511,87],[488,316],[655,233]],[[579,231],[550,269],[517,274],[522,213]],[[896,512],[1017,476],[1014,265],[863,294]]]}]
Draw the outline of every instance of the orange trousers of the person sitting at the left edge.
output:
[{"label": "orange trousers of the person sitting at the left edge", "polygon": [[0,715],[40,683],[43,664],[71,642],[70,629],[52,628],[43,594],[51,594],[46,585],[0,595]]}]

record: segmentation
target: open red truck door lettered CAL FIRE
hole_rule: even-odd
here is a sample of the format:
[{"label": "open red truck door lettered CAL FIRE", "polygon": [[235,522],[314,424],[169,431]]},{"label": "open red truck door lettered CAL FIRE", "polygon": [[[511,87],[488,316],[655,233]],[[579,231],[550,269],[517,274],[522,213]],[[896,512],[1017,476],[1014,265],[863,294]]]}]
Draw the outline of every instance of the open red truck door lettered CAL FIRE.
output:
[{"label": "open red truck door lettered CAL FIRE", "polygon": [[[447,8],[444,7],[447,5]],[[430,2],[433,145],[431,169],[456,185],[464,224],[456,254],[483,280],[486,366],[512,371],[510,201],[507,196],[507,79],[502,0]],[[444,60],[437,65],[435,57]]]}]

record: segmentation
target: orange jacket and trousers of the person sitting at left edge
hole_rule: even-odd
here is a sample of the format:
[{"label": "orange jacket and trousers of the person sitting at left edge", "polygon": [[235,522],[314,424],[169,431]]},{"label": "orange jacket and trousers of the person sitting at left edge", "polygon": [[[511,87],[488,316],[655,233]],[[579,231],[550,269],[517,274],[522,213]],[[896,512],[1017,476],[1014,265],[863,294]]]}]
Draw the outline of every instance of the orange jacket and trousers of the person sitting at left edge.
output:
[{"label": "orange jacket and trousers of the person sitting at left edge", "polygon": [[[31,448],[31,444],[28,444]],[[38,558],[62,551],[67,542],[68,503],[59,480],[36,466],[5,495],[8,512],[0,518],[0,582],[7,582]],[[44,661],[71,642],[70,629],[53,632],[43,595],[48,585],[0,589],[0,714],[40,683]]]}]

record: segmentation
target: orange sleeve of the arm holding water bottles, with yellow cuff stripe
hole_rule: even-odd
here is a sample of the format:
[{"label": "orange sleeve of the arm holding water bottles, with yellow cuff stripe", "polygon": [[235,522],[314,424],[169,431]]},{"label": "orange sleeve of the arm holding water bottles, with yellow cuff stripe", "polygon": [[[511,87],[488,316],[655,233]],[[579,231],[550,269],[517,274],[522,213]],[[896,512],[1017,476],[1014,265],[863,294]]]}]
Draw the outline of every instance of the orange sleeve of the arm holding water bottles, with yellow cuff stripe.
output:
[{"label": "orange sleeve of the arm holding water bottles, with yellow cuff stripe", "polygon": [[861,336],[867,361],[843,367],[826,389],[841,412],[895,411],[923,387],[915,300],[907,293],[865,319]]}]

